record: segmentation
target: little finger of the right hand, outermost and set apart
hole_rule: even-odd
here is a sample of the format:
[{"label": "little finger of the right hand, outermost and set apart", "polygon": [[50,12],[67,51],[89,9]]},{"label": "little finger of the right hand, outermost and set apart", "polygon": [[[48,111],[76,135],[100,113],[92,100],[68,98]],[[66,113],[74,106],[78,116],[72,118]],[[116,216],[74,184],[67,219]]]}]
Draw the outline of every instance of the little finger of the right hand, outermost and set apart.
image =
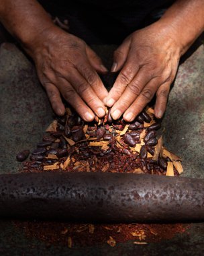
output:
[{"label": "little finger of the right hand, outermost and set apart", "polygon": [[156,93],[156,104],[154,107],[154,115],[156,118],[160,119],[164,115],[166,110],[166,103],[168,101],[168,94],[170,90],[170,82],[166,82],[158,88]]}]

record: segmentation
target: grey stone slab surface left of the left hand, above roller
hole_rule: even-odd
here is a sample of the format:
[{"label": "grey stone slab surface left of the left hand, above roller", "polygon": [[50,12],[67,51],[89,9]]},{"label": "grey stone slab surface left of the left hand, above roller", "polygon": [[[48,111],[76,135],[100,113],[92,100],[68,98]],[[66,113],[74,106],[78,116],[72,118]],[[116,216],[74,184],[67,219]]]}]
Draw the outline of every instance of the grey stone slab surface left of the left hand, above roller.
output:
[{"label": "grey stone slab surface left of the left hand, above roller", "polygon": [[15,155],[31,149],[52,120],[52,109],[34,65],[14,44],[1,44],[1,172],[17,172]]}]

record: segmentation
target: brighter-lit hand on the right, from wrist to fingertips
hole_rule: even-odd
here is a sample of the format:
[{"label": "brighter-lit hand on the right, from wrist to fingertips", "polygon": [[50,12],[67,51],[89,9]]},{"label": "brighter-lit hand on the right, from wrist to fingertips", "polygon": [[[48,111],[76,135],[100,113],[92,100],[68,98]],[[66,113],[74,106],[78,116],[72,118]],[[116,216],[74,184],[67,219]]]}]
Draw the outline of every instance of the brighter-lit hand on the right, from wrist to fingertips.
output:
[{"label": "brighter-lit hand on the right, from wrist to fingertips", "polygon": [[107,97],[111,116],[133,121],[156,93],[154,115],[166,108],[181,49],[173,29],[156,22],[128,36],[114,53],[111,71],[121,69]]}]

